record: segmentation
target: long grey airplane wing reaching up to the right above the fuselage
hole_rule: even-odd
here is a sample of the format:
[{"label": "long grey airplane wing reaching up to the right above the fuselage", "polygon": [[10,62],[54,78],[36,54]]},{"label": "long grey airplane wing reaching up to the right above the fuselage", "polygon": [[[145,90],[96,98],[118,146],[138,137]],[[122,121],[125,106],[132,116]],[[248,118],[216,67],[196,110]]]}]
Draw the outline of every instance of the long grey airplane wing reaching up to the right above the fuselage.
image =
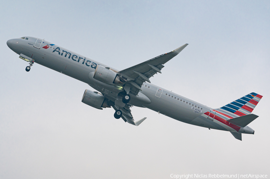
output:
[{"label": "long grey airplane wing reaching up to the right above the fuselage", "polygon": [[[188,44],[182,45],[181,47],[171,51],[169,53],[162,54],[153,59],[147,60],[143,63],[119,71],[122,79],[127,81],[125,84],[129,86],[127,89],[135,95],[141,90],[143,82],[150,82],[149,78],[153,77],[154,74],[161,73],[161,69],[164,67],[163,64],[168,62],[170,59],[180,53]],[[125,88],[124,88],[125,89]]]}]

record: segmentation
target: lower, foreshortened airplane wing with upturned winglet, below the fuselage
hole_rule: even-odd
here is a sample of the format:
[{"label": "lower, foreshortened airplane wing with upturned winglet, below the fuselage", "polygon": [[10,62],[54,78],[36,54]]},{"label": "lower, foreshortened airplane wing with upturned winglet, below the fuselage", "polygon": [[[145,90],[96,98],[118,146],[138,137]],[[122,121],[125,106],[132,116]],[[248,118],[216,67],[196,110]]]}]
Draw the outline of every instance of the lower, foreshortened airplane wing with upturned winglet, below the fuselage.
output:
[{"label": "lower, foreshortened airplane wing with upturned winglet, below the fuselage", "polygon": [[123,108],[120,108],[118,106],[112,106],[114,108],[114,110],[121,110],[122,111],[122,116],[121,118],[125,121],[125,122],[128,122],[134,126],[139,126],[140,123],[142,123],[146,117],[144,117],[143,119],[141,120],[138,120],[137,122],[134,122],[134,118],[132,117],[132,114],[131,114],[131,110],[130,110],[130,107],[131,105],[129,104],[126,104],[125,107]]}]

